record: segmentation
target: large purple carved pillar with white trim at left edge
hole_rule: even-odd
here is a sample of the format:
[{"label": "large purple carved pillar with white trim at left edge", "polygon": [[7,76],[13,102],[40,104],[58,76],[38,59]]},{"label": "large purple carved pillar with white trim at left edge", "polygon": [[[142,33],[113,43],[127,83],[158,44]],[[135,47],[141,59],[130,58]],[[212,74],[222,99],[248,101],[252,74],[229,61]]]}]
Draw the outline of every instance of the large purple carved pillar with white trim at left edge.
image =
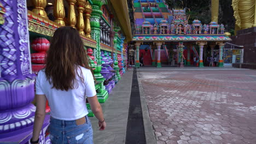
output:
[{"label": "large purple carved pillar with white trim at left edge", "polygon": [[34,81],[31,73],[26,0],[1,1],[6,9],[0,26],[0,143],[28,141],[32,134]]}]

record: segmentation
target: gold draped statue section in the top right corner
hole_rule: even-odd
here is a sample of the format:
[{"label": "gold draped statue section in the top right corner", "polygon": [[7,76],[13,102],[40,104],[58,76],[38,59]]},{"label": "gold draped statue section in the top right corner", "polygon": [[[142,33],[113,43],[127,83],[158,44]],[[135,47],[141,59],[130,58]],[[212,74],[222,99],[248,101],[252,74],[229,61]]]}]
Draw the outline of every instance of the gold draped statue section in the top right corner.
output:
[{"label": "gold draped statue section in the top right corner", "polygon": [[232,0],[236,29],[256,27],[256,1],[255,0]]}]

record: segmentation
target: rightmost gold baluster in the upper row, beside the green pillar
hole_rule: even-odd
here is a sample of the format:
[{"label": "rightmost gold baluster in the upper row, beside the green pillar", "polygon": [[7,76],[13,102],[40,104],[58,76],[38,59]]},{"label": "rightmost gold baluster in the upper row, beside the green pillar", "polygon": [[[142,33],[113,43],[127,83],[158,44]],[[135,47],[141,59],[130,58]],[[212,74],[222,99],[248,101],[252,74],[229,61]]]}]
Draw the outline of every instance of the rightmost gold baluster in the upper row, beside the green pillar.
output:
[{"label": "rightmost gold baluster in the upper row, beside the green pillar", "polygon": [[91,24],[90,24],[90,17],[91,17],[92,8],[89,2],[86,2],[85,5],[85,36],[87,38],[91,38]]}]

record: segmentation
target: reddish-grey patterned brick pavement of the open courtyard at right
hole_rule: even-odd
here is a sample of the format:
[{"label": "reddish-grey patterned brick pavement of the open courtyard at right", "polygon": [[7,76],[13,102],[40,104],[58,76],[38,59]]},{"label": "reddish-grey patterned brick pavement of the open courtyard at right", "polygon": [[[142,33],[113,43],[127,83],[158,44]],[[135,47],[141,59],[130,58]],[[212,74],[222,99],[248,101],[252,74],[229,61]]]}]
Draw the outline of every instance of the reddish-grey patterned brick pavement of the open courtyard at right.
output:
[{"label": "reddish-grey patterned brick pavement of the open courtyard at right", "polygon": [[139,71],[157,143],[256,143],[256,71]]}]

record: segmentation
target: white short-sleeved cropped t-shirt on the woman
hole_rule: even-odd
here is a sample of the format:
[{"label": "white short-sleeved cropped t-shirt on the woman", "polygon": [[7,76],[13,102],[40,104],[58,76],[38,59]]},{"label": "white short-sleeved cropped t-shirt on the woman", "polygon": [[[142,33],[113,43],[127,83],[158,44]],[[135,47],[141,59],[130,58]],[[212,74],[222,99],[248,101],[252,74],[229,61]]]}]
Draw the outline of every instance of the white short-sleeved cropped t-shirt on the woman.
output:
[{"label": "white short-sleeved cropped t-shirt on the woman", "polygon": [[[36,79],[36,94],[45,94],[51,109],[50,115],[53,118],[72,121],[88,115],[86,107],[86,96],[94,97],[96,90],[94,78],[89,69],[80,67],[83,73],[84,82],[76,76],[78,87],[68,91],[57,90],[53,83],[46,80],[44,70],[40,70]],[[80,69],[78,69],[80,75]],[[56,73],[58,73],[56,71]],[[59,72],[61,73],[61,72]]]}]

